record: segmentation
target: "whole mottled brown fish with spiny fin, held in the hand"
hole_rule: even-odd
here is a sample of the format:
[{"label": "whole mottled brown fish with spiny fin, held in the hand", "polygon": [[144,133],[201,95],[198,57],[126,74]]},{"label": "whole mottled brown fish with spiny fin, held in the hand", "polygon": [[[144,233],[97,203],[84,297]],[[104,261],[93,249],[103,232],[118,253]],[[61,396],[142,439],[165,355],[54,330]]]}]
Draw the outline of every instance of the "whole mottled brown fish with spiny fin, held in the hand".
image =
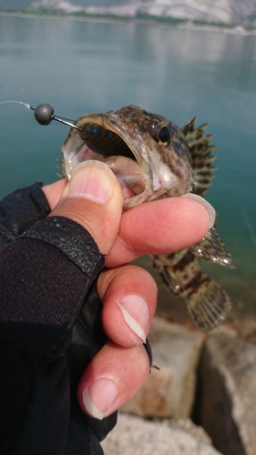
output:
[{"label": "whole mottled brown fish with spiny fin, held in the hand", "polygon": [[[180,128],[138,106],[79,116],[61,147],[65,175],[69,179],[74,167],[87,159],[105,162],[126,188],[123,211],[189,192],[203,197],[216,170],[216,147],[210,146],[213,136],[204,134],[209,124],[195,127],[195,122],[196,116]],[[150,258],[169,292],[185,299],[199,329],[213,329],[226,318],[230,297],[201,271],[198,260],[234,268],[215,227],[190,248]]]}]

